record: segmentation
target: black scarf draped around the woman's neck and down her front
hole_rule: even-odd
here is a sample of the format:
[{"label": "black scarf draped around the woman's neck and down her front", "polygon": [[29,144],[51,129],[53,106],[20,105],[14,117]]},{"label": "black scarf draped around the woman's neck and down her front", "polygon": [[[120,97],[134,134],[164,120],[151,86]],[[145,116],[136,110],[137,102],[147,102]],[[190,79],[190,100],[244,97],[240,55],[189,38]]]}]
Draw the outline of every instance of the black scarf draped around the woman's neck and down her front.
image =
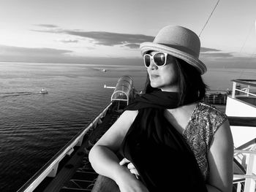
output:
[{"label": "black scarf draped around the woman's neck and down her front", "polygon": [[[184,104],[197,101],[189,98]],[[123,155],[149,191],[205,192],[206,184],[184,137],[165,118],[178,107],[178,93],[158,91],[138,97],[125,110],[138,110],[122,144]]]}]

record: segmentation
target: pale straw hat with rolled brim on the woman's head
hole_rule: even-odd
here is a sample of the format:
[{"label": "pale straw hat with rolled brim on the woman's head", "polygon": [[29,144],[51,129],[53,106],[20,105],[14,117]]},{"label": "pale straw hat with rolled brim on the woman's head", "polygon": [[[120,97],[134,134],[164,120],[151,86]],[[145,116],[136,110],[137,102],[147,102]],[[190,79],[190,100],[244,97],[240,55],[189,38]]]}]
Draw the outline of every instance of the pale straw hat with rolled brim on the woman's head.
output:
[{"label": "pale straw hat with rolled brim on the woman's head", "polygon": [[182,26],[166,26],[162,28],[153,42],[140,44],[141,54],[148,50],[162,51],[187,61],[188,64],[204,74],[207,71],[206,65],[199,60],[200,39],[193,31]]}]

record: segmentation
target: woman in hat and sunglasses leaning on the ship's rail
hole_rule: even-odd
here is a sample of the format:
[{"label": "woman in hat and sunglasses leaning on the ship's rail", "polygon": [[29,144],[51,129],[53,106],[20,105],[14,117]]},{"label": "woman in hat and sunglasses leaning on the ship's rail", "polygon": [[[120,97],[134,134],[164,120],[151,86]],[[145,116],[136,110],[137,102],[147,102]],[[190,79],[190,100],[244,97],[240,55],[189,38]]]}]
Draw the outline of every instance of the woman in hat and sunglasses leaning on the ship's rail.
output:
[{"label": "woman in hat and sunglasses leaning on the ship's rail", "polygon": [[91,165],[121,192],[232,191],[227,116],[200,102],[206,93],[200,39],[188,28],[166,26],[140,50],[146,94],[92,147]]}]

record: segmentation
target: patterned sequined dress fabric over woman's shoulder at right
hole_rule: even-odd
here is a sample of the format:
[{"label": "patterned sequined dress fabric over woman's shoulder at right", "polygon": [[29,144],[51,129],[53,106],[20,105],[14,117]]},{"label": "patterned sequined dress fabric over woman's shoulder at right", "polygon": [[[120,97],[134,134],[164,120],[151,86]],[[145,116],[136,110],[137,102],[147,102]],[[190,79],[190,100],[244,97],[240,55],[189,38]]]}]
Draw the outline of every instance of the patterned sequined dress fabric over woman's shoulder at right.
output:
[{"label": "patterned sequined dress fabric over woman's shoulder at right", "polygon": [[211,140],[225,120],[227,115],[223,112],[200,102],[192,112],[187,128],[183,132],[183,137],[195,154],[204,180],[207,180],[209,174],[207,154],[211,147]]}]

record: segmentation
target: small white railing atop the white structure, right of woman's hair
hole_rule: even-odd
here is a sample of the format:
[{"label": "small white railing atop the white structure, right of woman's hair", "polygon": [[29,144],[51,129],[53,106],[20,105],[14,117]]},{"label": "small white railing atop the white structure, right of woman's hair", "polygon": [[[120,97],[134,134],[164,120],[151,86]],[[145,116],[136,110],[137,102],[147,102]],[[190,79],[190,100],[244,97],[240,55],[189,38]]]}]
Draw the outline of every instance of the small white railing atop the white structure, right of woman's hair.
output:
[{"label": "small white railing atop the white structure, right of woman's hair", "polygon": [[[240,93],[245,93],[244,96],[256,96],[255,93],[252,93],[252,89],[256,89],[256,80],[232,80],[233,89],[232,89],[232,98],[236,98],[236,95]],[[246,85],[246,87],[241,88],[241,85]]]}]

